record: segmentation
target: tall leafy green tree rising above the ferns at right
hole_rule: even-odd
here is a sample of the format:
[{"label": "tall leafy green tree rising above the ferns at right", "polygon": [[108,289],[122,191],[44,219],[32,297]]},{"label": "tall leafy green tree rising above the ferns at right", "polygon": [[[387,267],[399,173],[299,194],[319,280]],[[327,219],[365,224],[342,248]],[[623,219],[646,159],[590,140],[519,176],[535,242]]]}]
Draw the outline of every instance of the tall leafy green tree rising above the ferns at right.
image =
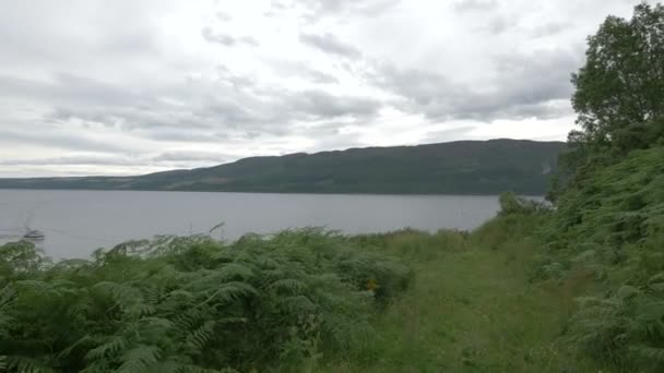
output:
[{"label": "tall leafy green tree rising above the ferns at right", "polygon": [[572,75],[582,131],[570,133],[570,144],[628,152],[656,142],[664,125],[664,7],[641,3],[629,21],[608,16],[585,55]]}]

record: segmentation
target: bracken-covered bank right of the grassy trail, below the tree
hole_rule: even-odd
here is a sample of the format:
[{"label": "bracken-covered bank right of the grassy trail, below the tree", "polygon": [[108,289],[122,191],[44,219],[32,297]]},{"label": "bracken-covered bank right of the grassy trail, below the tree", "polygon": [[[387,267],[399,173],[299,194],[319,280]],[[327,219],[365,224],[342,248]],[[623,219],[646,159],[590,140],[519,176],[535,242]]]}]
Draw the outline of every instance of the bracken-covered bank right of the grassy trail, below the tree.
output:
[{"label": "bracken-covered bank right of the grassy trail, below the tree", "polygon": [[566,339],[620,370],[664,370],[664,147],[582,168],[537,231],[546,251],[533,278],[594,279]]}]

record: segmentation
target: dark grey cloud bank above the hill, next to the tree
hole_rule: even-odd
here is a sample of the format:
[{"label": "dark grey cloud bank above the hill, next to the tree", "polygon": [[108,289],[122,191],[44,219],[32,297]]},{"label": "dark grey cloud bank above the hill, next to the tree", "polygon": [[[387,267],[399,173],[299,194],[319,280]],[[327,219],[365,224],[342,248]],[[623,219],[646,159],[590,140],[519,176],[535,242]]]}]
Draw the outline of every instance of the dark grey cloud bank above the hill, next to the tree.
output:
[{"label": "dark grey cloud bank above the hill, next to the tree", "polygon": [[550,118],[568,110],[556,103],[570,97],[569,74],[580,65],[579,56],[561,50],[502,56],[495,61],[498,77],[478,86],[455,84],[435,72],[393,67],[382,67],[374,79],[401,97],[395,103],[401,109],[424,112],[429,119]]}]

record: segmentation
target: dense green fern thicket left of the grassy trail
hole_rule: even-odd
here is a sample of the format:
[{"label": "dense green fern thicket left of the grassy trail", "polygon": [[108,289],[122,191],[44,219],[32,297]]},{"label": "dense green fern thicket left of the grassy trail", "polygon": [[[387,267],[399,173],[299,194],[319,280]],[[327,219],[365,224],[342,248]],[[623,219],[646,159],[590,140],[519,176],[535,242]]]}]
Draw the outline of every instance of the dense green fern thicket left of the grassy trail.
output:
[{"label": "dense green fern thicket left of the grassy trail", "polygon": [[398,261],[320,229],[230,244],[162,237],[56,264],[9,244],[0,362],[9,372],[289,372],[366,348],[377,306],[410,279]]}]

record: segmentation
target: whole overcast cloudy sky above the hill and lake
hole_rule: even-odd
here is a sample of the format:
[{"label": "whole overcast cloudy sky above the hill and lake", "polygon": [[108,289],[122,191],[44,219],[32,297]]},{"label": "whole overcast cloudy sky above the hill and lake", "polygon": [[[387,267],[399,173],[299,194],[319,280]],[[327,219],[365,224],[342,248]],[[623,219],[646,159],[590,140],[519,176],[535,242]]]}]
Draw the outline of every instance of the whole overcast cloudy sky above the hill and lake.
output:
[{"label": "whole overcast cloudy sky above the hill and lake", "polygon": [[584,40],[629,0],[0,2],[0,177],[564,140]]}]

